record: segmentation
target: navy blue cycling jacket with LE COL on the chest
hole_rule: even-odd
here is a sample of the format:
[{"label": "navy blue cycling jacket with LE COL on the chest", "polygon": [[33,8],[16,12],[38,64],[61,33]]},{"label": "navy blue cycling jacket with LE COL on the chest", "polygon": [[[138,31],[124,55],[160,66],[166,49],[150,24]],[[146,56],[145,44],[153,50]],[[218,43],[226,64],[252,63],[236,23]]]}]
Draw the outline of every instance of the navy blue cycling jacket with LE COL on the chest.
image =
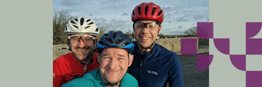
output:
[{"label": "navy blue cycling jacket with LE COL on the chest", "polygon": [[146,51],[141,59],[138,44],[133,41],[134,60],[128,73],[135,77],[139,87],[183,87],[182,65],[176,53],[159,44],[151,52]]}]

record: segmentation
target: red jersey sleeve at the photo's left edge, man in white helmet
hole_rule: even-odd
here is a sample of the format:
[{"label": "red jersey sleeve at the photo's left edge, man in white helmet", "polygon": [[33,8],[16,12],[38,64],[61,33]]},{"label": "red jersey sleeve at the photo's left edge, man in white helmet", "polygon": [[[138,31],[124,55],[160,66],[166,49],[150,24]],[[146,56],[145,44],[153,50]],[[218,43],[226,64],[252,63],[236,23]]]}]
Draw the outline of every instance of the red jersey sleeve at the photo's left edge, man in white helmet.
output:
[{"label": "red jersey sleeve at the photo's left edge, man in white helmet", "polygon": [[61,87],[64,83],[64,78],[60,71],[59,64],[54,60],[53,62],[53,87]]}]

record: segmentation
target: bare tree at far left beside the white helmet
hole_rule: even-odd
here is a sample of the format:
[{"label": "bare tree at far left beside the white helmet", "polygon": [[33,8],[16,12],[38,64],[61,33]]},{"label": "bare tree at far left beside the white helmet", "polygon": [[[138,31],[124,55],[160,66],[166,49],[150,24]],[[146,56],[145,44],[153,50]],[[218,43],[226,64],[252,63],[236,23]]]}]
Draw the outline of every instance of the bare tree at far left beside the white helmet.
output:
[{"label": "bare tree at far left beside the white helmet", "polygon": [[67,43],[67,34],[64,33],[65,24],[74,18],[71,11],[63,10],[54,12],[53,15],[53,44]]}]

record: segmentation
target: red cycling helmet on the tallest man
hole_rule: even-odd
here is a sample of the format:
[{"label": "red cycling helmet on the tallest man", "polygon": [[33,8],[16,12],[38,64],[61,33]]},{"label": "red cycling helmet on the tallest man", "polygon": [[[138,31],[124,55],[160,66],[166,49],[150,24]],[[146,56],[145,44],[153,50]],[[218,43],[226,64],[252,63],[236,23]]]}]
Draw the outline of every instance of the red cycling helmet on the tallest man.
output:
[{"label": "red cycling helmet on the tallest man", "polygon": [[132,13],[132,22],[139,19],[151,19],[161,24],[164,20],[164,12],[159,5],[144,2],[137,5]]}]

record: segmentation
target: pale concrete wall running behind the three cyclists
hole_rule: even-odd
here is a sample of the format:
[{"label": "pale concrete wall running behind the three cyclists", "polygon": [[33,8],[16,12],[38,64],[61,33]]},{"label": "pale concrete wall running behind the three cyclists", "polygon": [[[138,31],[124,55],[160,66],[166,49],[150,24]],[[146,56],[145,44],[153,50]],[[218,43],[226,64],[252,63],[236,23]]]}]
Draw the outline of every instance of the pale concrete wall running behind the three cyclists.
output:
[{"label": "pale concrete wall running behind the three cyclists", "polygon": [[[185,37],[185,38],[196,38],[196,37]],[[136,39],[133,39],[132,41],[136,41]],[[181,47],[180,47],[181,38],[159,38],[155,42],[170,51],[180,51],[181,50]],[[197,42],[198,42],[198,39],[197,39]],[[197,46],[198,46],[198,43],[197,43]],[[68,46],[67,44],[53,44],[53,60],[61,55],[71,52],[71,51],[70,52],[58,52],[58,47],[68,47]]]}]

